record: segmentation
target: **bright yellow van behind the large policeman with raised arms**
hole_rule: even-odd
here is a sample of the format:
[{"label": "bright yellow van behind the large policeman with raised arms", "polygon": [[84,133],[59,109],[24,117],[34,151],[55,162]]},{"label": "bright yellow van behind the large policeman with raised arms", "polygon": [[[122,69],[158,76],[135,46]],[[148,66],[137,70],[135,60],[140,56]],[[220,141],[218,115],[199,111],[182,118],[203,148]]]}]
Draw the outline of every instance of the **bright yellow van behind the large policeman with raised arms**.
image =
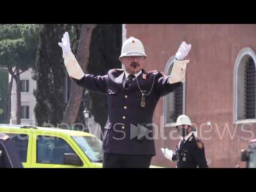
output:
[{"label": "bright yellow van behind the large policeman with raised arms", "polygon": [[14,142],[25,168],[102,168],[102,141],[90,133],[30,125],[0,125],[0,133]]}]

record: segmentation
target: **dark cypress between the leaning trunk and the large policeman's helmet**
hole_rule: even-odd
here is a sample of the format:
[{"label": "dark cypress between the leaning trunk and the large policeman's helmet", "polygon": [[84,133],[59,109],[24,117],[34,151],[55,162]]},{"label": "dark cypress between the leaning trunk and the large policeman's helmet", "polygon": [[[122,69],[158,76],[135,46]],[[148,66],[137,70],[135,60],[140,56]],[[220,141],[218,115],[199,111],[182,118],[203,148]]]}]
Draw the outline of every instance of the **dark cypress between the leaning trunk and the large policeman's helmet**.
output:
[{"label": "dark cypress between the leaning trunk and the large policeman's helmet", "polygon": [[[87,71],[94,75],[106,75],[109,69],[121,68],[119,55],[122,49],[122,25],[102,24],[93,30],[90,59]],[[91,108],[95,121],[103,128],[107,122],[106,95],[90,92]]]}]

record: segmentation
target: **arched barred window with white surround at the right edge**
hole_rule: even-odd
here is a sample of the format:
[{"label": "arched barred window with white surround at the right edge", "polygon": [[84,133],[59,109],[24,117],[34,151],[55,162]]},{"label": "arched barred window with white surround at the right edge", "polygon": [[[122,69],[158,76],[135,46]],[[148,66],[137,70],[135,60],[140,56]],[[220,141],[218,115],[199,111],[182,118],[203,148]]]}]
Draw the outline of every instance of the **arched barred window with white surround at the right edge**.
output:
[{"label": "arched barred window with white surround at the right edge", "polygon": [[249,47],[237,55],[234,68],[234,123],[256,123],[256,55]]}]

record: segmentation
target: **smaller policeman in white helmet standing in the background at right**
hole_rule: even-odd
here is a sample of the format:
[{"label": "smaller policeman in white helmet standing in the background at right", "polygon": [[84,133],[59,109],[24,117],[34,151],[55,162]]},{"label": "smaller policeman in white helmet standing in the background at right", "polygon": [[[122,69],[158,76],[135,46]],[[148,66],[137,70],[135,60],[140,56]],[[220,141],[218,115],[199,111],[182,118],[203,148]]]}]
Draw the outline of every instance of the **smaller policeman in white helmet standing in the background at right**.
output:
[{"label": "smaller policeman in white helmet standing in the background at right", "polygon": [[192,132],[190,118],[181,115],[177,118],[177,128],[181,140],[176,150],[163,149],[163,154],[171,161],[177,161],[178,168],[200,168],[208,167],[205,158],[204,143]]}]

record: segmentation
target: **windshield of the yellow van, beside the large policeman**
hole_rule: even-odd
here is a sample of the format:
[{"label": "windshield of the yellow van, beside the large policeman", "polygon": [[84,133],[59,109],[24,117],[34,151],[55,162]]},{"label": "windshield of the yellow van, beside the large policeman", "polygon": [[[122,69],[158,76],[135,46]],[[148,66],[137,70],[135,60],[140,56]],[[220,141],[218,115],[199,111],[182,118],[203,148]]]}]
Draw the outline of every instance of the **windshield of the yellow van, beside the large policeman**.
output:
[{"label": "windshield of the yellow van, beside the large policeman", "polygon": [[99,140],[97,137],[90,136],[74,136],[72,138],[91,162],[103,162],[101,140]]}]

